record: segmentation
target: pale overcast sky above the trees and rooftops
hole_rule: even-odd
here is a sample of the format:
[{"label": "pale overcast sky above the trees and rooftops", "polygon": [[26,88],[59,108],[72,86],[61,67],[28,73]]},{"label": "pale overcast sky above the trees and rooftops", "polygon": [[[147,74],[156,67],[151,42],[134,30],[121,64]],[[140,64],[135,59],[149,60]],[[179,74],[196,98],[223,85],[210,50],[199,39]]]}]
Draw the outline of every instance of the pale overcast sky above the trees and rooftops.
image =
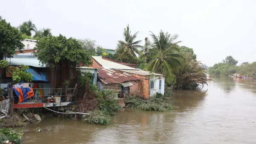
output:
[{"label": "pale overcast sky above the trees and rooftops", "polygon": [[123,40],[127,24],[140,31],[141,45],[149,31],[162,29],[208,66],[229,55],[239,64],[256,61],[256,0],[0,0],[0,15],[12,26],[30,19],[53,35],[90,38],[108,49]]}]

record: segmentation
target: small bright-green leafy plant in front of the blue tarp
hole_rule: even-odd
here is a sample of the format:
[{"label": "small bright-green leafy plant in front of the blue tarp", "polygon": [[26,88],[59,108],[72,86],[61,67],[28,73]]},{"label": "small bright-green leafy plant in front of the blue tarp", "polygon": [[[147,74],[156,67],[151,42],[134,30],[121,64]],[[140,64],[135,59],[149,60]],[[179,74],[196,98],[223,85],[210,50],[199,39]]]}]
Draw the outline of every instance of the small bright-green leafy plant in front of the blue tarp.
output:
[{"label": "small bright-green leafy plant in front of the blue tarp", "polygon": [[12,72],[12,80],[16,82],[25,81],[25,82],[31,82],[32,81],[32,75],[29,72],[26,72],[25,70],[29,69],[29,66],[20,65],[17,67],[17,69]]}]

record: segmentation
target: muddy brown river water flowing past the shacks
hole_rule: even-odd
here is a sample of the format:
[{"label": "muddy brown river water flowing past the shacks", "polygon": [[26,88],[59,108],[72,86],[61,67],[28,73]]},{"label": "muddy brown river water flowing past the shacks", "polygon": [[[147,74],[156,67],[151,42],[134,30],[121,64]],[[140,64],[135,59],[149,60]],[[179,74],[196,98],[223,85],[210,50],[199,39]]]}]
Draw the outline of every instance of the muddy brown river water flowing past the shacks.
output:
[{"label": "muddy brown river water flowing past the shacks", "polygon": [[46,118],[23,144],[256,144],[256,81],[218,78],[202,91],[176,91],[174,109],[125,109],[107,126]]}]

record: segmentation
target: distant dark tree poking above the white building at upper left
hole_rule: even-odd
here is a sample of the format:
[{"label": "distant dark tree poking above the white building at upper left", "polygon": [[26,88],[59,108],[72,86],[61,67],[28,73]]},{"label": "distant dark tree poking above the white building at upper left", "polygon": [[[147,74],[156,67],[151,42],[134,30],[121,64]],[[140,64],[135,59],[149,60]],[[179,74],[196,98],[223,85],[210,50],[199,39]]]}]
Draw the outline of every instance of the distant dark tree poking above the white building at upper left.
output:
[{"label": "distant dark tree poking above the white building at upper left", "polygon": [[18,28],[20,29],[21,33],[28,35],[28,36],[32,35],[31,31],[34,31],[34,32],[36,31],[35,24],[32,23],[31,20],[23,22]]}]

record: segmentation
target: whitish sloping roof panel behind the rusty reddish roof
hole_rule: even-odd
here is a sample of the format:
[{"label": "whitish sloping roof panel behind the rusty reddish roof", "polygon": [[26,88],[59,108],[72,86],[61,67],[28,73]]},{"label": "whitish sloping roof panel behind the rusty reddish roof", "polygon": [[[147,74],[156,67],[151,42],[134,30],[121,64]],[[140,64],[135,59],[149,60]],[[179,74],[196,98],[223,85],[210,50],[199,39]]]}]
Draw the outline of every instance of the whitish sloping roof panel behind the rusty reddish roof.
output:
[{"label": "whitish sloping roof panel behind the rusty reddish roof", "polygon": [[129,66],[125,66],[119,63],[115,63],[109,60],[102,59],[102,56],[93,56],[93,59],[96,60],[100,65],[105,69],[128,69],[128,70],[137,70]]}]

